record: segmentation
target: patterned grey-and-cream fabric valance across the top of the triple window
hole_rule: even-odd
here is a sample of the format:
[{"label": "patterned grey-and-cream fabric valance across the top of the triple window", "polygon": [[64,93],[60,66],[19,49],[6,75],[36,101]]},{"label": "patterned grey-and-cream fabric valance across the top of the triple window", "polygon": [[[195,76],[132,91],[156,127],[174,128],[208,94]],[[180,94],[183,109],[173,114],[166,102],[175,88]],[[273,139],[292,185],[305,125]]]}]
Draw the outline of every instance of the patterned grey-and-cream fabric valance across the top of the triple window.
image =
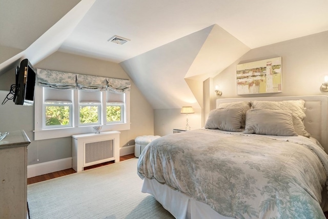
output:
[{"label": "patterned grey-and-cream fabric valance across the top of the triple window", "polygon": [[112,93],[125,93],[131,89],[128,79],[100,77],[61,71],[37,69],[38,85],[54,89],[81,89],[87,91],[108,90]]}]

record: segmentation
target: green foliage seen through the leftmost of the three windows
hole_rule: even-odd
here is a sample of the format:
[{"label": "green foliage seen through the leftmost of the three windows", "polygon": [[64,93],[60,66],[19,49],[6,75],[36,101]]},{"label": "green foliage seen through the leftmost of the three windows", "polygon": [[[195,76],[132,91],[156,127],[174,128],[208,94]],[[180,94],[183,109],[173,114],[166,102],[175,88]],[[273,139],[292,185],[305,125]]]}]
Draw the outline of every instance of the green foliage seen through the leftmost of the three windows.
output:
[{"label": "green foliage seen through the leftmost of the three windows", "polygon": [[70,108],[68,106],[46,106],[46,126],[68,125]]}]

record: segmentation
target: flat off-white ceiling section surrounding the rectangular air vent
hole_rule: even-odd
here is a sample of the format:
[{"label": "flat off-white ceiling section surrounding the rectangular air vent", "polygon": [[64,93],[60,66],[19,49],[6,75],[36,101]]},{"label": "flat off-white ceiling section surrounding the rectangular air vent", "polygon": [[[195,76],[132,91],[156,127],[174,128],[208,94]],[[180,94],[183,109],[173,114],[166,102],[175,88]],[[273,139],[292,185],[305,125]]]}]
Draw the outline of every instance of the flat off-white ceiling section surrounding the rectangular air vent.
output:
[{"label": "flat off-white ceiling section surrounding the rectangular air vent", "polygon": [[[120,63],[214,24],[253,49],[328,30],[327,8],[326,0],[96,0],[60,51]],[[131,41],[108,42],[113,35]]]}]

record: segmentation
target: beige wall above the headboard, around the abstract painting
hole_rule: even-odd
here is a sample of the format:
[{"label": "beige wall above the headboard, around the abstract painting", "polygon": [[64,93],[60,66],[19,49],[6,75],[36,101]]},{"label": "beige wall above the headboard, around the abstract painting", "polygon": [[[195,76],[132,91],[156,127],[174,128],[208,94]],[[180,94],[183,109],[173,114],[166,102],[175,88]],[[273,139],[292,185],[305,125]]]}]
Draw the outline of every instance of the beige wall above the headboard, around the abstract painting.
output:
[{"label": "beige wall above the headboard, around the abstract painting", "polygon": [[[328,95],[319,90],[328,74],[328,31],[252,49],[214,77],[220,98],[249,96]],[[282,58],[282,93],[237,95],[236,65],[262,59]]]}]

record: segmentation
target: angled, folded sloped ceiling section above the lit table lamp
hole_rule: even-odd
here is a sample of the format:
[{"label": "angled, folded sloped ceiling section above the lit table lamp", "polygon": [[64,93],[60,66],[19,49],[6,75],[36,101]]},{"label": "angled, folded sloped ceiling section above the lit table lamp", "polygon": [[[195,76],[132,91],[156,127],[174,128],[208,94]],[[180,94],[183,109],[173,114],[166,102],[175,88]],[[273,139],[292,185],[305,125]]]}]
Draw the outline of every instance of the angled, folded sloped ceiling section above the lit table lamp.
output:
[{"label": "angled, folded sloped ceiling section above the lit table lamp", "polygon": [[249,50],[212,25],[120,65],[154,109],[201,108],[202,95],[197,94],[202,94],[204,79],[220,73]]}]

